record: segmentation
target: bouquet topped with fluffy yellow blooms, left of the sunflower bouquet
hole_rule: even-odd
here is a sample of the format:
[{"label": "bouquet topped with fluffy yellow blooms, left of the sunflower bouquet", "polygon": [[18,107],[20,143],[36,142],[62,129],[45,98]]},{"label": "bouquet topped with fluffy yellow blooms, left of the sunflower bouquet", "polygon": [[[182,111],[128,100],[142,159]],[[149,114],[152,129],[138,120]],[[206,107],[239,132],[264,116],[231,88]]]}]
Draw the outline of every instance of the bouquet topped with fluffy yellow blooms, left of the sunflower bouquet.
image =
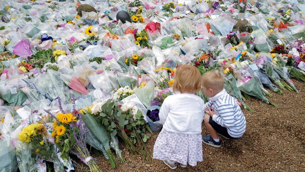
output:
[{"label": "bouquet topped with fluffy yellow blooms, left of the sunflower bouquet", "polygon": [[64,171],[63,164],[59,162],[53,144],[47,140],[47,129],[42,124],[31,124],[22,129],[19,139],[28,143],[39,157],[54,163],[55,171]]}]

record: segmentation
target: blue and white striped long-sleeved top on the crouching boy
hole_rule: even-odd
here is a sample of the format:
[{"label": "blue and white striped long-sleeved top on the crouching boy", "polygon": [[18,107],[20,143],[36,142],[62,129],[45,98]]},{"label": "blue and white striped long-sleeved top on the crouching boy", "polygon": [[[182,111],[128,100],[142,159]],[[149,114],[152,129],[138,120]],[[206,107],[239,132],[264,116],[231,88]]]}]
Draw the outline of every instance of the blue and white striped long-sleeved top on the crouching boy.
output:
[{"label": "blue and white striped long-sleeved top on the crouching boy", "polygon": [[211,107],[215,111],[213,121],[227,128],[228,134],[233,138],[240,138],[245,133],[246,118],[235,98],[230,96],[225,89],[211,97],[204,107]]}]

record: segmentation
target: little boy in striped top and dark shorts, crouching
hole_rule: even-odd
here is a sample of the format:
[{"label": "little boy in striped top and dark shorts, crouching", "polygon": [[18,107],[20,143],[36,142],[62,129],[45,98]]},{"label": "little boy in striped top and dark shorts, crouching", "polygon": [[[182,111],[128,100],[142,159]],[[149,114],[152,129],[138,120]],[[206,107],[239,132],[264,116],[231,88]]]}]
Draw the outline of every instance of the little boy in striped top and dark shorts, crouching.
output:
[{"label": "little boy in striped top and dark shorts, crouching", "polygon": [[223,89],[223,76],[217,71],[208,71],[201,77],[204,94],[209,101],[204,105],[204,123],[209,136],[202,136],[203,143],[220,148],[218,134],[226,139],[240,138],[246,130],[246,118],[235,98]]}]

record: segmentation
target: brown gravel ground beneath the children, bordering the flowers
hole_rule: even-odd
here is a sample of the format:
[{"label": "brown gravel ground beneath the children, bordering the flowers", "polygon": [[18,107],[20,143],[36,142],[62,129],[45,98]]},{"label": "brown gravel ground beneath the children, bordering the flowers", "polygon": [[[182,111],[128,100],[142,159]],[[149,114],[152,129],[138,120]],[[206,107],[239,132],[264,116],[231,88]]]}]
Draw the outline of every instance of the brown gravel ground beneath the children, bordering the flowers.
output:
[{"label": "brown gravel ground beneath the children, bordering the flowers", "polygon": [[[246,104],[255,113],[243,110],[247,120],[244,136],[237,140],[222,139],[221,148],[203,144],[204,161],[195,167],[178,167],[176,171],[304,171],[305,85],[298,81],[295,84],[299,94],[286,90],[277,95],[270,91],[273,97],[268,98],[279,108],[256,99],[247,100]],[[202,125],[202,135],[207,134]],[[154,133],[148,140],[151,156],[157,137],[158,133]],[[123,144],[120,147],[126,163],[118,162],[115,169],[111,169],[103,155],[93,155],[102,171],[171,171],[160,160],[152,159],[152,163],[148,164],[142,161],[141,156],[130,154]],[[81,166],[84,165],[75,165],[76,171],[86,171]]]}]

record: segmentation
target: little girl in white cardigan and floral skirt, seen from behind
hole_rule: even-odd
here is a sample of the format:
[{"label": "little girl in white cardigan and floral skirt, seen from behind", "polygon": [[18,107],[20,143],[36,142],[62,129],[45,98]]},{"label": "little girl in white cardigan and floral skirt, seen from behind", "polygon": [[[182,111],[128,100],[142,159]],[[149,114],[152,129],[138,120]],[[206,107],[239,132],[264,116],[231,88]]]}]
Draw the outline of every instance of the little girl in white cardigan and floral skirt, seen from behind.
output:
[{"label": "little girl in white cardigan and floral skirt, seen from behind", "polygon": [[163,129],[153,147],[153,158],[163,160],[171,169],[178,163],[185,168],[187,163],[196,166],[202,161],[201,123],[203,100],[194,95],[201,89],[199,70],[183,65],[175,72],[173,92],[165,98],[159,112]]}]

